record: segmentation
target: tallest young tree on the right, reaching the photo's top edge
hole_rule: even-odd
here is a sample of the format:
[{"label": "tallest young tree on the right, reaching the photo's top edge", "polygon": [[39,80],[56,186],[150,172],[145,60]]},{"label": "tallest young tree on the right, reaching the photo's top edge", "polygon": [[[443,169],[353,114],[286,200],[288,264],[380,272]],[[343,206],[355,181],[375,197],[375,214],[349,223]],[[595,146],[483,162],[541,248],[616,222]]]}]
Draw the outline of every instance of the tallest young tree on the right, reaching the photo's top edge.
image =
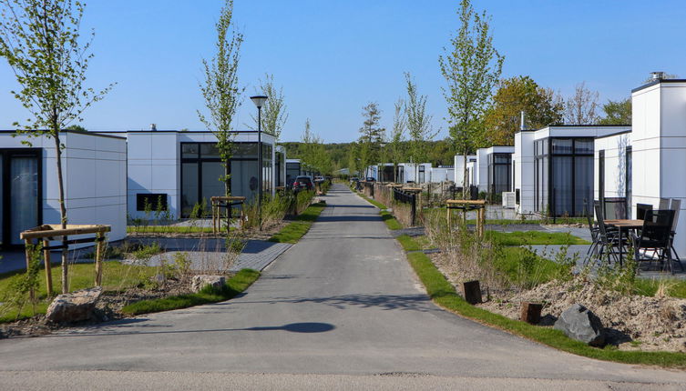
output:
[{"label": "tallest young tree on the right, reaching the photo's top edge", "polygon": [[[451,51],[438,58],[441,73],[447,81],[443,94],[448,105],[450,136],[464,158],[463,183],[466,184],[466,156],[483,138],[480,119],[493,95],[505,57],[493,47],[490,17],[486,11],[474,12],[469,0],[462,0],[457,12],[460,28],[451,38]],[[466,186],[463,188],[466,196]]]}]

